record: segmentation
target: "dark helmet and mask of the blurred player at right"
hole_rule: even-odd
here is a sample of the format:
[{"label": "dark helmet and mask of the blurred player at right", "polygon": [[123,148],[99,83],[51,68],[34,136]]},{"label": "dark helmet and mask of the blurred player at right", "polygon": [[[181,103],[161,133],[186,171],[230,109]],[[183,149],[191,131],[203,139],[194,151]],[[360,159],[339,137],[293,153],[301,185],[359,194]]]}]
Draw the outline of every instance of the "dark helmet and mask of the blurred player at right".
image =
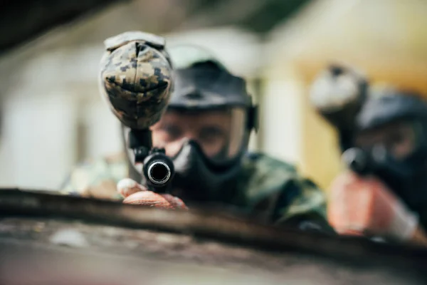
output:
[{"label": "dark helmet and mask of the blurred player at right", "polygon": [[426,118],[421,99],[387,90],[364,105],[354,148],[343,153],[353,170],[379,177],[417,212],[427,203]]}]

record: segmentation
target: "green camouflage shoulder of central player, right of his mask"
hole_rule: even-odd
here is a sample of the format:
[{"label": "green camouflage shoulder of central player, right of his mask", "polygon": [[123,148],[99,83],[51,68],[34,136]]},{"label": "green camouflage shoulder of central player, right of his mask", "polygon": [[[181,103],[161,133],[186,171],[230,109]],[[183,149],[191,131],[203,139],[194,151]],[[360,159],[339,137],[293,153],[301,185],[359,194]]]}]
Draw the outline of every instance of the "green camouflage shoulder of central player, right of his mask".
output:
[{"label": "green camouflage shoulder of central player, right of his mask", "polygon": [[249,154],[243,172],[246,182],[241,191],[249,207],[270,209],[274,220],[302,216],[325,220],[325,193],[294,165],[268,155]]}]

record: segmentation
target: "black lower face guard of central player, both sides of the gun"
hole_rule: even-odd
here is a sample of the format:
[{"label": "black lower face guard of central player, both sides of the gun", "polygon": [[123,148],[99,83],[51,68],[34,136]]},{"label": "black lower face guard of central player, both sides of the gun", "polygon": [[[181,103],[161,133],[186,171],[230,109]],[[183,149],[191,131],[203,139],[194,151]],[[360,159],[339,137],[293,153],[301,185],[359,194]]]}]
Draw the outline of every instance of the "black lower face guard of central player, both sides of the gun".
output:
[{"label": "black lower face guard of central player, both sides of the gun", "polygon": [[[129,177],[146,185],[141,175],[141,168],[137,168],[135,153],[130,145],[127,128],[122,127],[123,142],[128,157]],[[243,138],[241,147],[232,158],[228,158],[228,145],[216,155],[207,157],[201,146],[195,140],[186,140],[179,152],[170,157],[174,163],[174,177],[169,187],[172,195],[184,202],[223,202],[232,197],[236,188],[236,177],[241,170],[241,157],[246,150],[248,134]]]}]

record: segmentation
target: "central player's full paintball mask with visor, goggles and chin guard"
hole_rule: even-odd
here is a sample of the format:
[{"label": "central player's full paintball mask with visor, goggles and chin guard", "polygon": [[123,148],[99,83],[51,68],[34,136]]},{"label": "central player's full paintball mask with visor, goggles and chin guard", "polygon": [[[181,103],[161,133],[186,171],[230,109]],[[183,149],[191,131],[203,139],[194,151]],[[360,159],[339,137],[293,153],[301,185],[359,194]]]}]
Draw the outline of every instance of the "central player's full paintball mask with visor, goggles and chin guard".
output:
[{"label": "central player's full paintball mask with visor, goggles and chin guard", "polygon": [[[172,61],[179,56],[171,49],[169,53]],[[185,201],[209,202],[224,192],[232,195],[251,130],[256,128],[257,109],[246,82],[206,55],[202,61],[178,65],[174,79],[167,113],[152,128],[154,147],[164,147],[174,162],[172,194]],[[132,161],[132,152],[128,154]],[[132,167],[134,175],[141,167]]]}]

